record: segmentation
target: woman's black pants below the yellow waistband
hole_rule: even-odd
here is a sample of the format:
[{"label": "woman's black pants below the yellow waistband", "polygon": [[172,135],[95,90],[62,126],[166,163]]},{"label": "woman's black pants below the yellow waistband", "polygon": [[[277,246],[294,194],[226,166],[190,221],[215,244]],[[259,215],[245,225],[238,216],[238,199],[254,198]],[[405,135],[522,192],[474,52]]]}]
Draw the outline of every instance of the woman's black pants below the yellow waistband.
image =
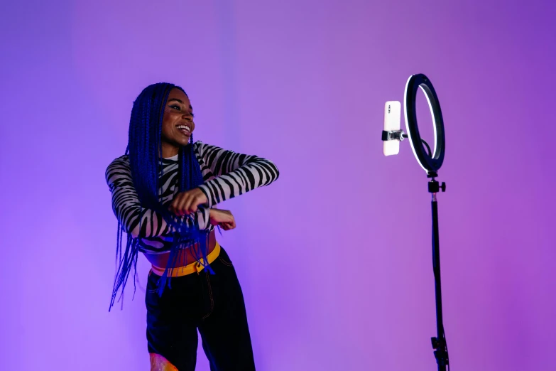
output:
[{"label": "woman's black pants below the yellow waistband", "polygon": [[210,267],[214,274],[203,269],[174,277],[161,297],[156,293],[160,276],[149,274],[148,352],[162,355],[178,371],[195,370],[198,328],[211,371],[255,370],[244,296],[224,249]]}]

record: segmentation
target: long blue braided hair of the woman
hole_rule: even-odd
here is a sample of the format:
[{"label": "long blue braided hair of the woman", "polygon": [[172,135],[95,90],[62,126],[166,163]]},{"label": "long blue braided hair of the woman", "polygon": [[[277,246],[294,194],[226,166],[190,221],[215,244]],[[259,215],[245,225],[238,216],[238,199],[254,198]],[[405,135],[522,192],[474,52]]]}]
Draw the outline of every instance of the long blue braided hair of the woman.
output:
[{"label": "long blue braided hair of the woman", "polygon": [[[160,202],[158,185],[158,177],[162,173],[162,141],[160,136],[162,134],[164,107],[168,101],[170,90],[174,88],[181,90],[187,95],[181,87],[168,82],[159,82],[143,89],[135,102],[133,102],[133,109],[131,109],[129,142],[126,150],[126,154],[129,154],[133,186],[141,203],[141,222],[145,209],[154,210],[168,223],[173,234],[168,267],[166,267],[163,276],[158,282],[159,295],[162,295],[167,284],[170,286],[168,271],[171,271],[170,267],[174,266],[178,258],[179,249],[190,247],[195,259],[199,260],[202,258],[202,264],[212,273],[212,269],[207,264],[208,233],[205,230],[199,230],[198,227],[187,227],[186,219],[176,217],[173,213],[170,213],[168,206],[164,206]],[[193,151],[193,136],[190,138],[190,144],[180,149],[178,160],[180,192],[201,185],[203,178],[199,162]],[[192,215],[189,217],[191,218],[190,225],[194,225]],[[131,234],[127,233],[126,248],[122,254],[124,232],[124,227],[119,222],[116,239],[116,264],[119,262],[119,267],[114,279],[110,308],[114,306],[114,301],[120,289],[119,299],[123,296],[131,269],[133,269],[133,292],[135,292],[138,247],[141,237],[133,238]]]}]

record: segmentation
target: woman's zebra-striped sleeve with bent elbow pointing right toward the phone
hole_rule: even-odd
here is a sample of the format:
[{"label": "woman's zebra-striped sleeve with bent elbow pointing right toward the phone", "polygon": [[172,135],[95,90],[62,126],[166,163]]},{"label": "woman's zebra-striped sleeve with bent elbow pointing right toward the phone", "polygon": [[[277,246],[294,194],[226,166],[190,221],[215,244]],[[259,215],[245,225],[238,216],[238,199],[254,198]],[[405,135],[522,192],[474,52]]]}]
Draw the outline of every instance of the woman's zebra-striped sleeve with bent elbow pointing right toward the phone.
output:
[{"label": "woman's zebra-striped sleeve with bent elbow pointing right toward the phone", "polygon": [[216,178],[200,185],[207,207],[269,185],[280,173],[272,161],[197,142],[197,153]]}]

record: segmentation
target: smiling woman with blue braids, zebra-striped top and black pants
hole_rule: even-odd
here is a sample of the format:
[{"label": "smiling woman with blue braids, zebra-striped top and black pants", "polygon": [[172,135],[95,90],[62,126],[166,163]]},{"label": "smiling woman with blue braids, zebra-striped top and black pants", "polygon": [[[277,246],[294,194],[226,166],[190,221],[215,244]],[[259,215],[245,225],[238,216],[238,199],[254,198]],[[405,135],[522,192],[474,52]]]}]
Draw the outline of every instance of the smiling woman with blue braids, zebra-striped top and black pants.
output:
[{"label": "smiling woman with blue braids, zebra-striped top and black pants", "polygon": [[212,207],[276,181],[278,169],[194,143],[193,117],[189,97],[172,84],[150,85],[133,102],[129,155],[106,173],[119,222],[110,306],[143,252],[152,264],[145,299],[151,371],[195,370],[197,328],[211,370],[255,370],[241,287],[214,235],[214,226],[231,230],[236,222]]}]

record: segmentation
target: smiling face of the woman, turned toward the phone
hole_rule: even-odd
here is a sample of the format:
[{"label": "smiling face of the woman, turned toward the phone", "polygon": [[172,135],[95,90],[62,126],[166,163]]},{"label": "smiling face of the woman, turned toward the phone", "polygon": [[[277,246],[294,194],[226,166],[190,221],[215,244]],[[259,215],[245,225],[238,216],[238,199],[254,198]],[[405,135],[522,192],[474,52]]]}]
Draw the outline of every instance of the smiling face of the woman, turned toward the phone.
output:
[{"label": "smiling face of the woman, turned toward the phone", "polygon": [[195,122],[189,98],[179,89],[170,90],[162,122],[161,140],[165,157],[178,154],[181,146],[187,146],[193,130]]}]

